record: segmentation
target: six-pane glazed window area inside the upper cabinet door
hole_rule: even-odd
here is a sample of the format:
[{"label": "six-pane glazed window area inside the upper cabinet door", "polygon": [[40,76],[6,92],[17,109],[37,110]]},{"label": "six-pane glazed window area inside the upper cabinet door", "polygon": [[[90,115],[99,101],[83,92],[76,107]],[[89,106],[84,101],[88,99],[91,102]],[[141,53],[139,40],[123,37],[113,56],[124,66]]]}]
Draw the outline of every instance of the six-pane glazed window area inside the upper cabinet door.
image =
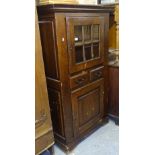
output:
[{"label": "six-pane glazed window area inside the upper cabinet door", "polygon": [[97,24],[75,25],[75,62],[85,63],[100,57],[100,27]]}]

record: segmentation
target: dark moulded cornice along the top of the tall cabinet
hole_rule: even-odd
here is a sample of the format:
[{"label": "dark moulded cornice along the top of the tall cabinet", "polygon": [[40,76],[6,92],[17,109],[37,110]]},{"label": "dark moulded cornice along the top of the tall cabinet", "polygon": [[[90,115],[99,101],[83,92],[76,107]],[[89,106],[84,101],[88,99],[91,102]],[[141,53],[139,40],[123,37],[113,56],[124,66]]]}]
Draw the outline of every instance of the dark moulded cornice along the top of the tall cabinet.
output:
[{"label": "dark moulded cornice along the top of the tall cabinet", "polygon": [[47,4],[38,5],[38,14],[51,14],[54,12],[70,12],[70,13],[103,13],[114,11],[114,6],[107,5],[81,5],[81,4]]}]

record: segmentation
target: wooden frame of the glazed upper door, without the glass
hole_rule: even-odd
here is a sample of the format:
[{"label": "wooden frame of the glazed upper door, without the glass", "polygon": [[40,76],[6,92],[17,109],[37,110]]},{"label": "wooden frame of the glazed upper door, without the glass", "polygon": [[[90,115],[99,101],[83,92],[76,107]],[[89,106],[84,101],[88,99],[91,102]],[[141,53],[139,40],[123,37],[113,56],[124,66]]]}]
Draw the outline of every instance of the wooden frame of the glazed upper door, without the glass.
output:
[{"label": "wooden frame of the glazed upper door, without the glass", "polygon": [[[104,63],[104,28],[105,22],[104,17],[100,16],[86,16],[80,14],[79,16],[67,16],[66,26],[67,26],[67,40],[68,40],[68,58],[69,58],[69,72],[72,74],[81,70],[91,68],[95,65]],[[89,60],[83,63],[75,64],[75,45],[74,45],[74,25],[92,25],[99,24],[100,26],[100,57],[94,60]]]}]

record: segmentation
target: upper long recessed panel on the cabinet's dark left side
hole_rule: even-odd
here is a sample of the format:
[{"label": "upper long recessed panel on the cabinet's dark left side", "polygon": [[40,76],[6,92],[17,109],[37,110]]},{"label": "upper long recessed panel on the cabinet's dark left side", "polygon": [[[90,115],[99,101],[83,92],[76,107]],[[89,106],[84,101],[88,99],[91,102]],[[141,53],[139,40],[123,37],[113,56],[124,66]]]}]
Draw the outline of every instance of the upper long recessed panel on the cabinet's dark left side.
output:
[{"label": "upper long recessed panel on the cabinet's dark left side", "polygon": [[59,79],[54,21],[40,21],[39,26],[46,76]]}]

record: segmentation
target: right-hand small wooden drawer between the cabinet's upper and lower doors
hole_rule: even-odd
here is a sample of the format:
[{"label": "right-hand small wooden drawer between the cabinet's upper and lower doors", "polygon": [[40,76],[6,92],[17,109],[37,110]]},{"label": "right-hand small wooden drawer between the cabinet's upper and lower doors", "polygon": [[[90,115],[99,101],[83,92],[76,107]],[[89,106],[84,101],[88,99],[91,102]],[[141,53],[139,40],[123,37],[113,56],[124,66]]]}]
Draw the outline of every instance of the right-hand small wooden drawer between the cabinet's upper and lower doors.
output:
[{"label": "right-hand small wooden drawer between the cabinet's upper and lower doors", "polygon": [[99,67],[90,71],[90,81],[95,81],[103,77],[104,67]]}]

